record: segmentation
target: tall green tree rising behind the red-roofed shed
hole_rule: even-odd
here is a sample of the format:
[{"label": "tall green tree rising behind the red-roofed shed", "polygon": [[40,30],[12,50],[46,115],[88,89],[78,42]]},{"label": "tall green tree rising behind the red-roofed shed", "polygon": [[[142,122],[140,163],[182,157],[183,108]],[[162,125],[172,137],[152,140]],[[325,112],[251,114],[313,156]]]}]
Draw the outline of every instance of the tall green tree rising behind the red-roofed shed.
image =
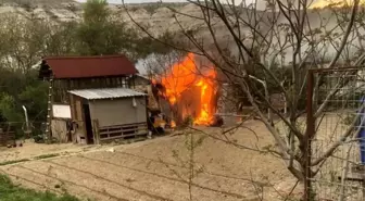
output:
[{"label": "tall green tree rising behind the red-roofed shed", "polygon": [[113,20],[104,0],[88,0],[84,10],[84,22],[76,38],[77,53],[102,55],[131,52],[134,32],[125,23]]}]

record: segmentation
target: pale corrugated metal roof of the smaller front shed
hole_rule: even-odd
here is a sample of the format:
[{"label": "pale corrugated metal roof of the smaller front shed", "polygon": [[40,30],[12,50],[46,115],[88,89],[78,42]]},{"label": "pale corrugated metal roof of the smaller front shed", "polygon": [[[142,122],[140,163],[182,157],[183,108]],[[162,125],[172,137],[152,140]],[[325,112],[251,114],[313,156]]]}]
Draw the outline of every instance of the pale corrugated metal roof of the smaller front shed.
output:
[{"label": "pale corrugated metal roof of the smaller front shed", "polygon": [[68,92],[88,100],[147,96],[146,93],[138,92],[127,88],[83,89],[83,90],[71,90]]}]

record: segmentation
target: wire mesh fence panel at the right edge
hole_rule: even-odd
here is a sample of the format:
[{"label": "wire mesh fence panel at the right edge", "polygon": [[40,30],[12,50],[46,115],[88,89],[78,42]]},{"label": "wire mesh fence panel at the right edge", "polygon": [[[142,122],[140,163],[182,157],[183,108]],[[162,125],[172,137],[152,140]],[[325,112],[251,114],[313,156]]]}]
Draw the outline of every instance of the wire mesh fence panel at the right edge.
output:
[{"label": "wire mesh fence panel at the right edge", "polygon": [[364,70],[309,72],[306,201],[365,200]]}]

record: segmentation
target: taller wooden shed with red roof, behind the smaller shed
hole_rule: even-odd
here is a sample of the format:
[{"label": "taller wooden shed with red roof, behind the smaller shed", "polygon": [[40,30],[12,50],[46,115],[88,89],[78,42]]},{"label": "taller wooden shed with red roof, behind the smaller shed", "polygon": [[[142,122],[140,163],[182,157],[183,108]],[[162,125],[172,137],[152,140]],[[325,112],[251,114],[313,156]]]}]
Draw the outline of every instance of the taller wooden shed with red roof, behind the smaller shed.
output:
[{"label": "taller wooden shed with red roof, behind the smaller shed", "polygon": [[46,56],[39,78],[49,81],[48,139],[72,140],[70,90],[134,88],[135,65],[124,55]]}]

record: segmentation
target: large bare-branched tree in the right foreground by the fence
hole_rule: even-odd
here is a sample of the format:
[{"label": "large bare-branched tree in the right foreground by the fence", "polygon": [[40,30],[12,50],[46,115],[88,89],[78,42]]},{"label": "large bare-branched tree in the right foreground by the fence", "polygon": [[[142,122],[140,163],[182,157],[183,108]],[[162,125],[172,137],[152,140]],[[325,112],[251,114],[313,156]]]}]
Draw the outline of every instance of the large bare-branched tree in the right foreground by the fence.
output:
[{"label": "large bare-branched tree in the right foreground by the fence", "polygon": [[[174,11],[175,23],[180,28],[179,40],[188,41],[189,46],[160,41],[177,50],[206,58],[230,85],[239,86],[270,131],[277,148],[275,153],[281,156],[299,180],[304,180],[304,167],[309,163],[304,158],[306,139],[313,137],[301,124],[305,114],[305,106],[301,106],[301,103],[305,100],[307,71],[362,64],[363,55],[355,53],[362,49],[362,42],[356,40],[364,32],[360,20],[356,20],[360,18],[360,1],[355,0],[352,5],[343,8],[324,10],[311,9],[312,2],[309,0],[267,0],[262,10],[259,5],[263,2],[259,0],[251,4],[243,1],[239,5],[234,0],[189,2],[199,10],[199,15],[171,9]],[[128,10],[127,5],[126,9]],[[130,14],[129,16],[131,17]],[[186,27],[181,23],[184,17],[190,17],[199,27]],[[131,21],[147,35],[155,38],[147,27],[133,17]],[[274,66],[290,70],[287,85],[273,72]],[[269,83],[275,86],[275,92],[285,96],[288,115],[277,110],[269,100],[268,96],[274,91],[262,90],[257,80]],[[318,86],[319,83],[316,84]],[[328,100],[337,92],[338,90],[328,91],[326,101],[317,106],[314,116],[324,112]],[[267,109],[273,115],[267,115]],[[282,124],[275,123],[274,116]],[[349,128],[338,142],[311,165],[316,166],[326,161],[340,146],[340,141],[352,133]]]}]

